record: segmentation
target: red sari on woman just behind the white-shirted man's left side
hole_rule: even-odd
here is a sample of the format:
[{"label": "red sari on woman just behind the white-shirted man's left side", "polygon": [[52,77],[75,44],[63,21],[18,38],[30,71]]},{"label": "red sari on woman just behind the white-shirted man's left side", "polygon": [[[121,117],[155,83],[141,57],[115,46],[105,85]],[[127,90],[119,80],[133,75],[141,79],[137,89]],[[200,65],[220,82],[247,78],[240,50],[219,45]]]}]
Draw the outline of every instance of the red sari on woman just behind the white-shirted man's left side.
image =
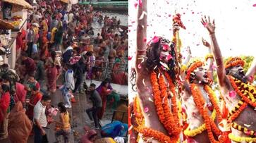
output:
[{"label": "red sari on woman just behind the white-shirted man's left side", "polygon": [[30,120],[33,120],[34,107],[37,104],[37,102],[41,100],[41,98],[42,98],[42,94],[40,92],[37,92],[36,94],[33,94],[32,97],[30,97],[30,104],[33,105],[33,106],[28,105],[27,115],[28,115],[28,118],[30,118]]}]

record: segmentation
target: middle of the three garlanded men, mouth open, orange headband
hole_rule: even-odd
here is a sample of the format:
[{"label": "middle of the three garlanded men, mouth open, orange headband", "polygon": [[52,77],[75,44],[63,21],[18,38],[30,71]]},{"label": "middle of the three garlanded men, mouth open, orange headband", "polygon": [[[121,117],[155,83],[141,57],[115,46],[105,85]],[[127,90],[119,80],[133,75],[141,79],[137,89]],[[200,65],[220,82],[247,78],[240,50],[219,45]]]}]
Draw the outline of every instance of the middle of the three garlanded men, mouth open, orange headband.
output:
[{"label": "middle of the three garlanded men, mouth open, orange headband", "polygon": [[[210,45],[205,39],[202,42],[210,50]],[[188,56],[190,57],[190,56]],[[183,87],[181,99],[185,106],[186,123],[184,128],[185,140],[189,143],[200,142],[227,142],[223,132],[219,130],[218,123],[222,121],[222,114],[219,108],[219,100],[212,89],[212,56],[207,56],[206,61],[195,60],[190,63]],[[208,66],[208,67],[206,67]],[[208,68],[208,69],[207,69]]]}]

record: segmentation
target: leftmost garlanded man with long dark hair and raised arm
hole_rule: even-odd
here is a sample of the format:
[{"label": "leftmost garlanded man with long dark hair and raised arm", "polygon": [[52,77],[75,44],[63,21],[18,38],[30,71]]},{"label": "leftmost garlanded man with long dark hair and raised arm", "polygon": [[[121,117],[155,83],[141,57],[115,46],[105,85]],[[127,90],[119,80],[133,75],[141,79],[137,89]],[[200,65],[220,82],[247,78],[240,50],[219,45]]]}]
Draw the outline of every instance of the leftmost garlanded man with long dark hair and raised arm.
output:
[{"label": "leftmost garlanded man with long dark hair and raised arm", "polygon": [[[140,133],[138,142],[179,142],[181,125],[178,118],[177,93],[173,81],[176,78],[175,45],[163,37],[154,37],[148,44],[147,0],[138,9],[137,50],[135,61],[135,97],[133,112],[136,116],[134,130]],[[180,25],[179,25],[180,26]],[[178,30],[173,23],[173,32]],[[173,57],[173,58],[172,58]],[[138,104],[137,104],[138,103]]]}]

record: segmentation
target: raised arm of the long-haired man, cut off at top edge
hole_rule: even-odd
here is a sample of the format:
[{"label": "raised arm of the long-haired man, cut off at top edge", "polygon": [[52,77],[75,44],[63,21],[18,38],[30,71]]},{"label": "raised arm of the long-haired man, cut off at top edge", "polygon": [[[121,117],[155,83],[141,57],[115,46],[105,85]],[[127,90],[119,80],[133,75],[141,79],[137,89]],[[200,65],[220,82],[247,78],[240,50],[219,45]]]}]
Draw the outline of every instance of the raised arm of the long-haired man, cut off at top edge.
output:
[{"label": "raised arm of the long-haired man, cut off at top edge", "polygon": [[[142,0],[142,5],[138,6],[138,25],[137,25],[137,46],[136,46],[136,61],[135,70],[136,73],[145,71],[145,67],[138,68],[146,54],[146,42],[147,38],[147,0]],[[138,74],[139,75],[139,74]]]}]

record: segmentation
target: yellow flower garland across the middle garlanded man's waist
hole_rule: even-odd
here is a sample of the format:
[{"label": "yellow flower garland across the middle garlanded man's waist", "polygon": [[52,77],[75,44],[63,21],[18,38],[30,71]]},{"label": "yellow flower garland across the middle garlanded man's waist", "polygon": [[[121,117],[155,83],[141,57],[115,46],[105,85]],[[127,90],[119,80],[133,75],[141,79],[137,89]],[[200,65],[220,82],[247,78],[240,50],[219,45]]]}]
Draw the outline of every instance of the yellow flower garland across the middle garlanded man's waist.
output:
[{"label": "yellow flower garland across the middle garlanded man's waist", "polygon": [[[216,118],[216,113],[217,113],[216,110],[214,110],[214,111],[212,112],[212,116],[211,116],[212,120],[215,120],[215,118]],[[205,130],[206,130],[206,127],[205,127],[205,123],[204,123],[204,124],[200,125],[200,127],[196,128],[196,129],[194,129],[194,130],[189,130],[189,127],[186,128],[186,129],[184,130],[184,135],[186,135],[186,136],[188,136],[188,137],[195,137],[196,135],[198,135],[198,134],[204,132]]]}]

